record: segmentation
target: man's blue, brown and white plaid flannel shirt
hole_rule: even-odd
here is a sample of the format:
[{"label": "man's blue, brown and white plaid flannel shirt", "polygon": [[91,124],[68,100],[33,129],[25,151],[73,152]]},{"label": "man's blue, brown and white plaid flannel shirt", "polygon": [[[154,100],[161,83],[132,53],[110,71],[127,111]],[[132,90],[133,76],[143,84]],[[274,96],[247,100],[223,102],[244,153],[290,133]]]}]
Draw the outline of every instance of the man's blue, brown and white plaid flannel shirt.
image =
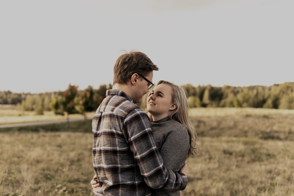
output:
[{"label": "man's blue, brown and white plaid flannel shirt", "polygon": [[106,91],[92,120],[95,195],[150,195],[150,188],[183,190],[184,174],[167,170],[148,116],[119,90]]}]

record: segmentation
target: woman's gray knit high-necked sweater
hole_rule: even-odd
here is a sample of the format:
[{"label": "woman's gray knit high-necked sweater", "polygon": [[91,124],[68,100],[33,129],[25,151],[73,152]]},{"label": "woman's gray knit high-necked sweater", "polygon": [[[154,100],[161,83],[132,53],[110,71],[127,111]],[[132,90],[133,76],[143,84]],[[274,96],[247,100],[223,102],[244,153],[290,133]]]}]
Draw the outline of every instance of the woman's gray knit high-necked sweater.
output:
[{"label": "woman's gray knit high-necked sweater", "polygon": [[[178,172],[183,167],[190,148],[190,136],[187,128],[169,117],[151,121],[151,125],[153,138],[163,159],[163,165],[167,169]],[[153,190],[152,196],[154,195],[179,196],[180,191]]]}]

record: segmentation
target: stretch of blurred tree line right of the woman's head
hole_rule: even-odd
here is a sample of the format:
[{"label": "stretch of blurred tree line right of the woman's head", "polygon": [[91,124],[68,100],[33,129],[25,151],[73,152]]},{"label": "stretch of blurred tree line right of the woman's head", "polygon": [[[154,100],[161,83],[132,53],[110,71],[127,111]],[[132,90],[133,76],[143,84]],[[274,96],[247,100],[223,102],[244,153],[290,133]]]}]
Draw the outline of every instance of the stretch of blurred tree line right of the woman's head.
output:
[{"label": "stretch of blurred tree line right of the woman's head", "polygon": [[294,82],[272,86],[194,87],[184,85],[188,102],[193,107],[294,109]]}]

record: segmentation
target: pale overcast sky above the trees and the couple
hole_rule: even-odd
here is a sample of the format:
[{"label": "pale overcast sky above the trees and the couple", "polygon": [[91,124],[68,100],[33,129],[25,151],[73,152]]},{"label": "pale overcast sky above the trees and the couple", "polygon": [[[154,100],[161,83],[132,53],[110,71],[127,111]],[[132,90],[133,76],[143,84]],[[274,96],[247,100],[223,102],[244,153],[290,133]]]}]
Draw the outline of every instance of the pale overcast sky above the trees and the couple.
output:
[{"label": "pale overcast sky above the trees and the couple", "polygon": [[112,83],[121,50],[159,67],[153,83],[293,82],[293,0],[3,0],[0,91]]}]

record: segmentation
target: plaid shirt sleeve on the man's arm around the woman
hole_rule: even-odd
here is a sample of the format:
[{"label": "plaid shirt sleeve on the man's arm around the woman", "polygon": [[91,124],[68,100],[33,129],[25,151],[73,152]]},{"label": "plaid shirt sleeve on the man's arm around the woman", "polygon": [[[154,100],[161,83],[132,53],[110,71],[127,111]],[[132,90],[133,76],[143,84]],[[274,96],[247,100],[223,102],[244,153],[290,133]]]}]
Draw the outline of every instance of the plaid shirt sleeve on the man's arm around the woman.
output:
[{"label": "plaid shirt sleeve on the man's arm around the woman", "polygon": [[163,160],[152,136],[150,121],[144,111],[133,110],[125,118],[125,138],[134,153],[141,175],[153,189],[183,190],[188,179],[163,166]]}]

